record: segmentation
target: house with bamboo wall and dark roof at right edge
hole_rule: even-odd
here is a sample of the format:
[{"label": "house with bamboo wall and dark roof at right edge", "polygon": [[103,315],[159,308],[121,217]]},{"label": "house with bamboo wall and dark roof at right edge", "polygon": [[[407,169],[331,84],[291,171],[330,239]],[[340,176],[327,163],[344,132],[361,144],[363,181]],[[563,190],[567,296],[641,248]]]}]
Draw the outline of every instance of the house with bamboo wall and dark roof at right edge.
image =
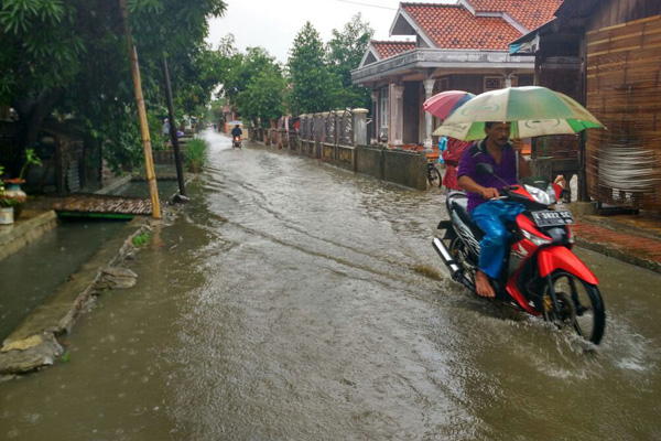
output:
[{"label": "house with bamboo wall and dark roof at right edge", "polygon": [[607,127],[581,144],[579,200],[661,211],[661,2],[565,0],[554,14],[512,53]]}]

